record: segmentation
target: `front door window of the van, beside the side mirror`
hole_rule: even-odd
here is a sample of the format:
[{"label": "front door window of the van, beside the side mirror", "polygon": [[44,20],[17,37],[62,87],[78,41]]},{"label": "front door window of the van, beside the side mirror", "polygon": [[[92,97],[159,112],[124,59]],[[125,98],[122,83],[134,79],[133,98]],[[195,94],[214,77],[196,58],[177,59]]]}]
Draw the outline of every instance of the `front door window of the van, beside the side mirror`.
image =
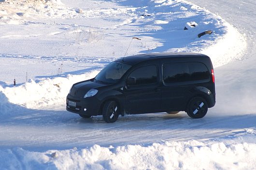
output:
[{"label": "front door window of the van, beside the side mirror", "polygon": [[132,86],[155,84],[157,82],[156,65],[147,65],[135,69],[128,78],[136,78],[136,83]]}]

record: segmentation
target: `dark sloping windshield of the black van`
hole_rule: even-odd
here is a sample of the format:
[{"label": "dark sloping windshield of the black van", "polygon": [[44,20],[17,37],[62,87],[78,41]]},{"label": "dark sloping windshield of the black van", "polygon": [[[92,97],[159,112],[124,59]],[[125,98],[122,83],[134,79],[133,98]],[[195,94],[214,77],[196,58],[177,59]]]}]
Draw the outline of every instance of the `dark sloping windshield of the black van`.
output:
[{"label": "dark sloping windshield of the black van", "polygon": [[94,82],[104,84],[114,84],[127,72],[131,65],[112,62],[104,67],[100,73],[95,77]]}]

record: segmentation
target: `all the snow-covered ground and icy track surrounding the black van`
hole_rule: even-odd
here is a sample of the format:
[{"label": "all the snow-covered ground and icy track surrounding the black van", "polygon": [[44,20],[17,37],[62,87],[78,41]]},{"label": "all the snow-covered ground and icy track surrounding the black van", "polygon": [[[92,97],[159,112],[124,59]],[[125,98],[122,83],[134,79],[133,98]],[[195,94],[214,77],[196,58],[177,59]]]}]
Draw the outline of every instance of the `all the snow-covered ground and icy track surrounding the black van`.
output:
[{"label": "all the snow-covered ground and icy track surrounding the black van", "polygon": [[[190,1],[0,0],[0,169],[255,170],[256,2]],[[107,124],[65,111],[73,83],[147,52],[212,58],[217,103],[205,118]]]}]

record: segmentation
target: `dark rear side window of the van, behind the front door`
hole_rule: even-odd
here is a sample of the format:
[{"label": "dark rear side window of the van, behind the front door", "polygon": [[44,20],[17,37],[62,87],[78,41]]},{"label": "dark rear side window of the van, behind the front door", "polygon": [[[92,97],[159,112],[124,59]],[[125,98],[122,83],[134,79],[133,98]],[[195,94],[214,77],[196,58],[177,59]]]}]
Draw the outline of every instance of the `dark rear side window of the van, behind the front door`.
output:
[{"label": "dark rear side window of the van, behind the front door", "polygon": [[204,64],[199,62],[165,63],[163,80],[165,84],[208,82],[210,72]]}]

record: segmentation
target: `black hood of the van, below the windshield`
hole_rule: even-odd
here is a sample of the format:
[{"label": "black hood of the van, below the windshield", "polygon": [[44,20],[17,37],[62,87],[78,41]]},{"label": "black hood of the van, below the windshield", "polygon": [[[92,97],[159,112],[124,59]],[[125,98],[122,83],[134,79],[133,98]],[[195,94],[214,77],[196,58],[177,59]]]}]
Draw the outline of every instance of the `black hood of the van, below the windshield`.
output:
[{"label": "black hood of the van, below the windshield", "polygon": [[93,81],[93,79],[81,81],[73,84],[70,94],[75,97],[84,97],[86,92],[91,89],[95,89],[98,87],[107,86],[106,84],[100,84]]}]

